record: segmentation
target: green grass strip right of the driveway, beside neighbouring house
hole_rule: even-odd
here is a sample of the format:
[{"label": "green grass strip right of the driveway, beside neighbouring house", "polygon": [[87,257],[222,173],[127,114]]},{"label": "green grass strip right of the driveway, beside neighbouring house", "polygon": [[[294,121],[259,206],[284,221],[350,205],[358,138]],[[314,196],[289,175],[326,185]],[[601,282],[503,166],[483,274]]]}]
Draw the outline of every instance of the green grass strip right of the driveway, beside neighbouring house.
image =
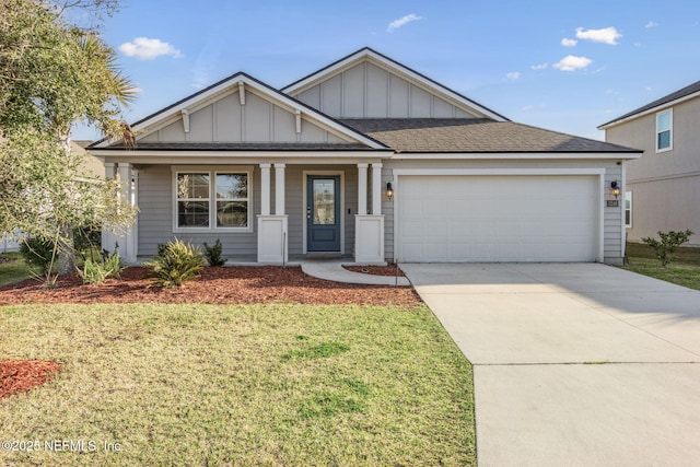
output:
[{"label": "green grass strip right of the driveway, beside neighbouring house", "polygon": [[661,266],[654,250],[645,244],[629,243],[627,255],[630,264],[626,266],[626,269],[700,290],[700,248],[678,248],[676,253],[678,259],[669,264],[667,268]]}]

